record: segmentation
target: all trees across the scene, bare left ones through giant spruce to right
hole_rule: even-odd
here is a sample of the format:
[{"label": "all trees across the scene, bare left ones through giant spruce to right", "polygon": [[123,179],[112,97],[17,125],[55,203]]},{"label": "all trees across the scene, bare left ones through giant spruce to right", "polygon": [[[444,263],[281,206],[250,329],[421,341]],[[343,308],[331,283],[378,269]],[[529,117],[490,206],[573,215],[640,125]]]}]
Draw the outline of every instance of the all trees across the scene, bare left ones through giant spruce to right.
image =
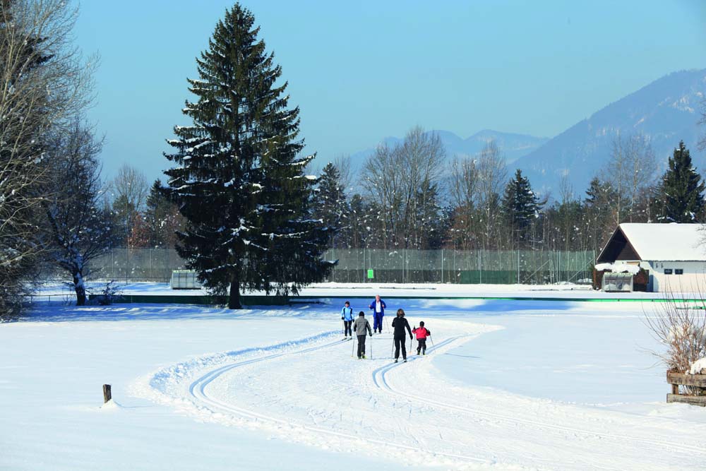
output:
[{"label": "all trees across the scene, bare left ones through giant spruce to right", "polygon": [[64,0],[0,0],[0,315],[34,280],[61,270],[84,304],[87,264],[115,245],[175,246],[212,292],[297,292],[330,270],[328,246],[594,249],[625,221],[701,222],[704,183],[680,143],[655,179],[640,136],[617,138],[582,198],[539,198],[508,177],[489,143],[450,165],[438,136],[412,129],[365,162],[349,196],[349,162],[306,175],[299,108],[236,4],[217,24],[189,80],[188,126],[175,126],[172,168],[151,187],[123,167],[104,184],[102,138],[85,119],[96,58],[71,44],[78,11]]}]

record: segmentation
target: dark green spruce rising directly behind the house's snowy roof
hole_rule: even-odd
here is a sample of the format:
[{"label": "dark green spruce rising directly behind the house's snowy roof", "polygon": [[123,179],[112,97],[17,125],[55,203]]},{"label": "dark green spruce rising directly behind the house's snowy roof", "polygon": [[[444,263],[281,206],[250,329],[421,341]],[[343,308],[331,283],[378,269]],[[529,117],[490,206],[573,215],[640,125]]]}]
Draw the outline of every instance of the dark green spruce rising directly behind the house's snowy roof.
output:
[{"label": "dark green spruce rising directly behind the house's snowy roof", "polygon": [[706,184],[691,163],[684,141],[674,149],[662,177],[660,222],[703,222]]}]

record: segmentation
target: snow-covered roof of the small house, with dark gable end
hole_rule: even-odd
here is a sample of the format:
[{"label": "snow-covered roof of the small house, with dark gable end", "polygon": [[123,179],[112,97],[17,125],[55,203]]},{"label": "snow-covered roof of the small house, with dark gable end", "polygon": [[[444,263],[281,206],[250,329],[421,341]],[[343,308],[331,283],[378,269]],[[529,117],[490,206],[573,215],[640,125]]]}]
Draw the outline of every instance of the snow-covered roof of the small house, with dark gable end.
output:
[{"label": "snow-covered roof of the small house, with dark gable end", "polygon": [[598,257],[599,263],[616,260],[706,261],[705,226],[621,224]]}]

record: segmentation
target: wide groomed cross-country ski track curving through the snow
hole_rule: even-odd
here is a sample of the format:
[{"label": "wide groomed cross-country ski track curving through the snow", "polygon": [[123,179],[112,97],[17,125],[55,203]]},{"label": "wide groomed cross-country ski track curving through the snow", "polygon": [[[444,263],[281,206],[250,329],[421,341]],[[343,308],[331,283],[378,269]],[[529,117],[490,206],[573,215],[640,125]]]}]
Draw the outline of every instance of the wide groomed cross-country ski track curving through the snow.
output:
[{"label": "wide groomed cross-country ski track curving through the snow", "polygon": [[[133,393],[203,422],[417,467],[683,470],[703,463],[703,425],[469,386],[435,368],[434,357],[495,329],[436,319],[436,345],[428,342],[426,357],[411,350],[409,362],[397,364],[390,333],[368,338],[369,359],[361,361],[340,333],[321,333],[168,366],[136,381]],[[693,427],[700,432],[690,433]]]}]

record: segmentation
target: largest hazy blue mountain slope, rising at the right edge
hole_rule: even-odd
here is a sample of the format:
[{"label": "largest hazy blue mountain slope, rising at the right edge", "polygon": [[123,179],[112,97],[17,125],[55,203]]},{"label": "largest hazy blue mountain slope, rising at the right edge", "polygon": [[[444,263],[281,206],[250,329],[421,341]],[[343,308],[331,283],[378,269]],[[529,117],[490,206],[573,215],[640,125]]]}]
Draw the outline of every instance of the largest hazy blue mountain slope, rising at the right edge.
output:
[{"label": "largest hazy blue mountain slope, rising at the right edge", "polygon": [[609,159],[611,143],[623,136],[642,133],[650,139],[659,172],[667,157],[683,140],[695,165],[706,170],[706,153],[696,148],[701,103],[706,96],[706,69],[681,71],[659,78],[635,93],[611,103],[590,118],[551,138],[541,147],[517,159],[536,189],[556,190],[566,172],[576,193],[583,194],[590,179]]}]

